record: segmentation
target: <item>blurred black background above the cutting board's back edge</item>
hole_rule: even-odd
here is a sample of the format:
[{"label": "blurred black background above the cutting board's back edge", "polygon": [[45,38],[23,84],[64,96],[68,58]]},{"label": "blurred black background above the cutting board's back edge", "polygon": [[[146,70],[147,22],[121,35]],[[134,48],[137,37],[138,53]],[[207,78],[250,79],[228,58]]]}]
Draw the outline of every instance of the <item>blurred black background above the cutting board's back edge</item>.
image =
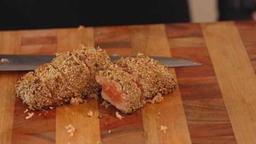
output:
[{"label": "blurred black background above the cutting board's back edge", "polygon": [[[147,23],[203,22],[193,18],[191,3],[204,8],[211,3],[179,1],[32,1],[3,0],[0,3],[0,30],[57,27],[138,25]],[[202,1],[202,0],[201,0]],[[216,20],[252,19],[254,0],[213,0]],[[210,5],[209,5],[210,4]],[[189,10],[190,9],[190,10]],[[207,9],[206,9],[207,10]],[[207,17],[205,10],[201,14]],[[195,16],[194,16],[195,17]]]}]

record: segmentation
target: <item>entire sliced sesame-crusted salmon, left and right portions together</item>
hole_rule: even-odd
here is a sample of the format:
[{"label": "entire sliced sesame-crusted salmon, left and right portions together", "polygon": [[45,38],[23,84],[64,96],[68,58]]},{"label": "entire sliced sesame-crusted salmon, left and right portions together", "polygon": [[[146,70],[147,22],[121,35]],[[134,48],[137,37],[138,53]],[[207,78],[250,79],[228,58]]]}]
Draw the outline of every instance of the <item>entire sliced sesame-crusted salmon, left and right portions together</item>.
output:
[{"label": "entire sliced sesame-crusted salmon, left and right portions together", "polygon": [[152,58],[138,55],[112,63],[99,47],[81,45],[22,76],[16,94],[30,109],[41,110],[101,92],[117,109],[131,113],[146,103],[159,103],[175,88],[168,68]]}]

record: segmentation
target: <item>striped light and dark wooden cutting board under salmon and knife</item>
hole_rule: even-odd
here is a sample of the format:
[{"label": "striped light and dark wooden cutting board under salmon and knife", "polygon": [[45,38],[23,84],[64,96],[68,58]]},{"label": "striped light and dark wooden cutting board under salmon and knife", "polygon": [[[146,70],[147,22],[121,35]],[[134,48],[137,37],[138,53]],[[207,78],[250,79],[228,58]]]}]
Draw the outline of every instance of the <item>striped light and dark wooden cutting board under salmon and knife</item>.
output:
[{"label": "striped light and dark wooden cutting board under salmon and knife", "polygon": [[[103,99],[31,111],[15,97],[27,71],[0,72],[0,143],[255,143],[256,22],[176,23],[0,32],[1,54],[52,55],[79,44],[109,55],[189,59],[199,67],[171,68],[178,88],[160,104],[115,117]],[[85,117],[88,111],[94,117]],[[158,114],[160,113],[160,114]],[[101,116],[99,118],[98,116]],[[65,127],[75,127],[68,137]],[[160,125],[168,127],[166,133]]]}]

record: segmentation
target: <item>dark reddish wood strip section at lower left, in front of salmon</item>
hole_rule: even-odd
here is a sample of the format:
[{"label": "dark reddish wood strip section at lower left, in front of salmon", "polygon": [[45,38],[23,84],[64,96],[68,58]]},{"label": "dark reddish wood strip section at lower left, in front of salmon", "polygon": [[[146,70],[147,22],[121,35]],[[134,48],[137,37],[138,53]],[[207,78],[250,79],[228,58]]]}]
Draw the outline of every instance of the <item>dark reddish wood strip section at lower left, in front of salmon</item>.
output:
[{"label": "dark reddish wood strip section at lower left, in front of salmon", "polygon": [[[26,73],[19,73],[19,77]],[[28,110],[20,98],[15,99],[13,135],[11,143],[55,143],[56,109],[46,111]],[[33,117],[26,119],[27,113],[34,112]],[[39,113],[41,113],[39,115]]]}]

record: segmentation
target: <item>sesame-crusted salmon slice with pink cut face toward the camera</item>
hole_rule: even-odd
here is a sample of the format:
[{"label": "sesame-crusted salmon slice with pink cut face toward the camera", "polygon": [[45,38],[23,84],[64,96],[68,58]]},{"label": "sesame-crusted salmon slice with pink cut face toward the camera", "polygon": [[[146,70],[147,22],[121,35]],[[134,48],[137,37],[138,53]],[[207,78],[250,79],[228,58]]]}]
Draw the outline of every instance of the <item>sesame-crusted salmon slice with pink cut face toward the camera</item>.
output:
[{"label": "sesame-crusted salmon slice with pink cut face toward the camera", "polygon": [[102,86],[102,98],[122,112],[131,113],[144,105],[135,77],[118,65],[107,64],[106,69],[96,75],[96,81]]}]

